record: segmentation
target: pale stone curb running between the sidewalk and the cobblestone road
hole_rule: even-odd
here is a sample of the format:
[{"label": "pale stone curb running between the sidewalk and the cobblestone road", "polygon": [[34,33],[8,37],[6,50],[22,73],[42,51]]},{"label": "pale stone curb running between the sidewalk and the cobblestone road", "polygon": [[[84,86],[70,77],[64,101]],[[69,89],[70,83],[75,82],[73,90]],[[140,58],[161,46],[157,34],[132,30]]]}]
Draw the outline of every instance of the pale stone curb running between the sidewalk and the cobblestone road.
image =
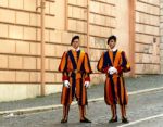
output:
[{"label": "pale stone curb running between the sidewalk and the cobblestone road", "polygon": [[[151,91],[160,91],[160,90],[163,90],[163,87],[131,91],[131,92],[128,92],[128,96],[140,94],[140,93],[146,93],[146,92],[151,92]],[[103,100],[104,98],[97,98],[97,99],[90,99],[88,100],[88,102],[97,102],[97,101],[103,101]],[[76,104],[77,102],[73,102],[71,105],[76,105]],[[14,115],[23,115],[23,114],[29,114],[29,113],[38,113],[38,112],[43,112],[43,111],[57,110],[60,107],[62,107],[62,104],[28,107],[28,109],[21,109],[21,110],[11,110],[11,111],[1,111],[0,116],[14,116]]]}]

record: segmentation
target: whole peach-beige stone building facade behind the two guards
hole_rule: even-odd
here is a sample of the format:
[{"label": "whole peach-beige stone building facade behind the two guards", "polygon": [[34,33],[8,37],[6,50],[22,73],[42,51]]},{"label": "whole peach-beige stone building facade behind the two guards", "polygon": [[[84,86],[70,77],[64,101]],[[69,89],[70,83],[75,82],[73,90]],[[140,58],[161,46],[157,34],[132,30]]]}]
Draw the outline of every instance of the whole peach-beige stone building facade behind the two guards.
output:
[{"label": "whole peach-beige stone building facade behind the two guards", "polygon": [[[74,35],[90,55],[92,84],[103,82],[97,61],[110,35],[131,63],[127,76],[163,73],[162,0],[45,0],[45,93],[61,91],[60,59]],[[0,0],[0,101],[41,94],[41,0]]]}]

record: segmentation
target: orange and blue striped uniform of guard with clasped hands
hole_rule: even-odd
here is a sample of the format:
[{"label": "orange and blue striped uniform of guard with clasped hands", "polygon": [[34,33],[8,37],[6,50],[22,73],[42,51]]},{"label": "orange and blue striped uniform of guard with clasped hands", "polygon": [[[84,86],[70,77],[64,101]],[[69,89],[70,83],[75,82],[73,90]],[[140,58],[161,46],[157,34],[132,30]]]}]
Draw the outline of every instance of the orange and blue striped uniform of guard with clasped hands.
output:
[{"label": "orange and blue striped uniform of guard with clasped hands", "polygon": [[[114,66],[117,74],[110,75],[108,69]],[[128,96],[125,88],[123,72],[130,71],[130,65],[126,59],[125,52],[116,50],[114,52],[103,52],[97,66],[98,71],[106,74],[104,86],[104,100],[108,105],[120,104],[127,105]]]}]

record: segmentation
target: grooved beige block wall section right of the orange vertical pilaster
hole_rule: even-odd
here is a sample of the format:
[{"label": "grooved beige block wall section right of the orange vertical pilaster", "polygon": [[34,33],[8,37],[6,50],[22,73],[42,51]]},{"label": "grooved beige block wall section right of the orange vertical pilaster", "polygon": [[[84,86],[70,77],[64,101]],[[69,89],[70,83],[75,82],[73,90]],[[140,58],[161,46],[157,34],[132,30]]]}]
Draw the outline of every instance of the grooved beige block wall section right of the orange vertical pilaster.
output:
[{"label": "grooved beige block wall section right of the orange vertical pilaster", "polygon": [[136,74],[160,74],[159,0],[137,0],[135,37]]}]

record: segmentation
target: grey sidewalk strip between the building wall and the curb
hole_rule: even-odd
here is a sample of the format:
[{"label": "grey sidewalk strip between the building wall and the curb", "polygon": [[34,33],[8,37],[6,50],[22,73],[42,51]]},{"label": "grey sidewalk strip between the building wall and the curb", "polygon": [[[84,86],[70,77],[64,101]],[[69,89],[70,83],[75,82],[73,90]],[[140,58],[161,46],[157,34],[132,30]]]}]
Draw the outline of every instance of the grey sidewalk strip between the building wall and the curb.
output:
[{"label": "grey sidewalk strip between the building wall and the curb", "polygon": [[[88,99],[96,99],[103,97],[104,85],[96,85],[88,89]],[[163,75],[145,76],[138,78],[126,78],[126,87],[129,92],[163,87]],[[52,106],[60,104],[61,93],[54,93],[47,97],[26,99],[13,102],[1,102],[0,112],[21,110],[21,109],[35,109],[39,106]]]}]

